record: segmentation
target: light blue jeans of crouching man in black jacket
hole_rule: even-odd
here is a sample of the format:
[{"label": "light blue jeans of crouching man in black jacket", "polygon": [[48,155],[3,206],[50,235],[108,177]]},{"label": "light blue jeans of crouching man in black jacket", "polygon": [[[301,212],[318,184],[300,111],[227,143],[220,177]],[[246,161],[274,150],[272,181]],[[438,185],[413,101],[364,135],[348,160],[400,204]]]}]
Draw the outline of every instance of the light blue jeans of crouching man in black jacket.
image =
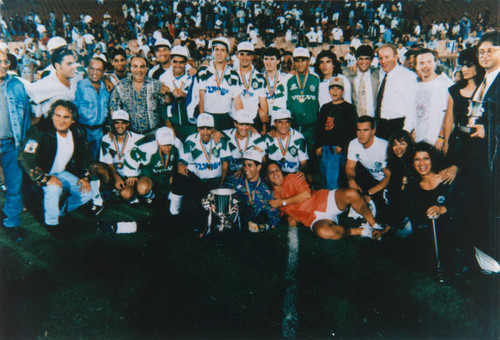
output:
[{"label": "light blue jeans of crouching man in black jacket", "polygon": [[67,211],[73,211],[84,205],[92,199],[92,191],[81,192],[78,182],[79,178],[67,171],[54,174],[62,182],[63,187],[57,185],[47,185],[43,187],[43,210],[45,212],[45,224],[59,224],[59,216],[63,212],[59,208],[59,200],[64,190],[69,191],[69,197],[66,200]]}]

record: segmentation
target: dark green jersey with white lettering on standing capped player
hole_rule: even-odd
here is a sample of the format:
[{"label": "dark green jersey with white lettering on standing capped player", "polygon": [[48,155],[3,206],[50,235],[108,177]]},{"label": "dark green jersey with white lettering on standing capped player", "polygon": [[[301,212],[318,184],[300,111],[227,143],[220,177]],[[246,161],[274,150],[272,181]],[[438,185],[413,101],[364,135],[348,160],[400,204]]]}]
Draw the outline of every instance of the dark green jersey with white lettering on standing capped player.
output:
[{"label": "dark green jersey with white lettering on standing capped player", "polygon": [[[302,85],[306,77],[305,85]],[[288,79],[286,107],[299,126],[316,125],[319,110],[319,83],[318,76],[310,72],[307,75],[294,75]]]}]

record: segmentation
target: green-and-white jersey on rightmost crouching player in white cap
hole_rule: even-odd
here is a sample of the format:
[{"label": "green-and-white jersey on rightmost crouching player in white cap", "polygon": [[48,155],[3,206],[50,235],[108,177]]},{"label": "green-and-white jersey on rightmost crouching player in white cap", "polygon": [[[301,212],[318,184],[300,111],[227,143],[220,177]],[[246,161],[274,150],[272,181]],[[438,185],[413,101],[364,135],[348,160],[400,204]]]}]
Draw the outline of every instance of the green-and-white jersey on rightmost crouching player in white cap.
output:
[{"label": "green-and-white jersey on rightmost crouching player in white cap", "polygon": [[300,162],[309,159],[304,135],[295,129],[290,129],[290,134],[285,140],[277,136],[273,138],[267,134],[262,137],[261,142],[258,144],[260,148],[267,152],[269,159],[280,163],[284,172],[299,171]]}]

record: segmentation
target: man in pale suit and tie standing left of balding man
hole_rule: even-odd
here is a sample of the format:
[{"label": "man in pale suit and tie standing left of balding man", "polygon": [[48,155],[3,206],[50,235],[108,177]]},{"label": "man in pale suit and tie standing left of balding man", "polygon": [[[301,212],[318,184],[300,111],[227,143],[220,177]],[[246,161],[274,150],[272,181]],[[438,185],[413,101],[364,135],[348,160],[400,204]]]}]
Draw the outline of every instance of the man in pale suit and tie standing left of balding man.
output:
[{"label": "man in pale suit and tie standing left of balding man", "polygon": [[361,45],[356,50],[356,71],[349,72],[352,103],[356,106],[358,117],[375,115],[379,85],[379,71],[372,70],[373,48]]}]

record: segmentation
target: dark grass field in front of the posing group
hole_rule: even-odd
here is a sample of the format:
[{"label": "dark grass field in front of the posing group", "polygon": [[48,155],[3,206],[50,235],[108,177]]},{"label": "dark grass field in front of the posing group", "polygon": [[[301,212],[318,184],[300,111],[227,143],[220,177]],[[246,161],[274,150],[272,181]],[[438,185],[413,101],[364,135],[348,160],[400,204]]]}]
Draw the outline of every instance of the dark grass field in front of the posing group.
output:
[{"label": "dark grass field in front of the posing group", "polygon": [[138,221],[139,231],[127,235],[97,232],[96,220],[77,211],[68,217],[74,236],[65,241],[23,213],[25,240],[14,243],[0,234],[0,338],[500,334],[496,277],[477,273],[439,284],[431,271],[405,265],[384,242],[324,241],[304,227],[297,230],[296,267],[290,270],[284,225],[225,235],[216,245],[173,223],[165,210],[124,204],[104,210],[101,223]]}]

